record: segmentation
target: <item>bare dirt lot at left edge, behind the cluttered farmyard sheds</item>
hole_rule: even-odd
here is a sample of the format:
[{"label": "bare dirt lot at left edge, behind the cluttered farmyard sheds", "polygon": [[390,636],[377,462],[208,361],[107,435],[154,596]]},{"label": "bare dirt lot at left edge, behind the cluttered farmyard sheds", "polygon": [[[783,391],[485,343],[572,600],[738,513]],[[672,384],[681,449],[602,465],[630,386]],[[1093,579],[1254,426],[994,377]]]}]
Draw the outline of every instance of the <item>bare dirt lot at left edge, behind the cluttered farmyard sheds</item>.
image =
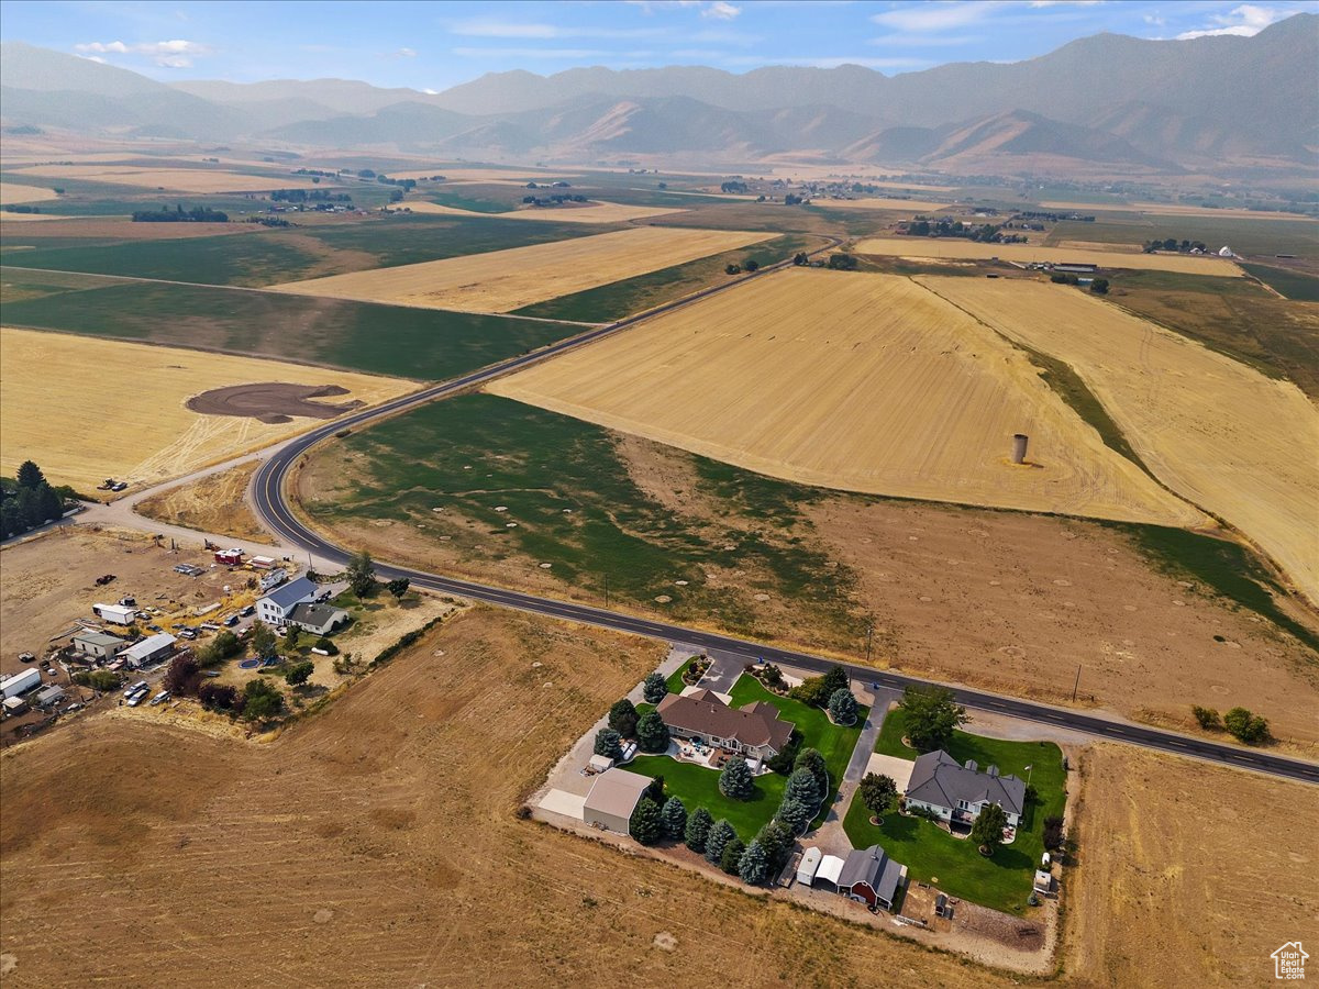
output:
[{"label": "bare dirt lot at left edge, behind the cluttered farmyard sheds", "polygon": [[[226,583],[233,580],[224,568],[211,570],[211,554],[202,541],[179,553],[157,547],[145,534],[120,530],[100,531],[91,526],[66,526],[0,550],[0,673],[22,669],[21,651],[42,655],[46,644],[73,628],[77,618],[92,620],[94,604],[113,604],[124,595],[140,605],[160,605],[157,595],[186,605],[220,600]],[[173,571],[177,563],[206,567],[204,576],[190,578]],[[96,578],[115,574],[106,587]]]}]

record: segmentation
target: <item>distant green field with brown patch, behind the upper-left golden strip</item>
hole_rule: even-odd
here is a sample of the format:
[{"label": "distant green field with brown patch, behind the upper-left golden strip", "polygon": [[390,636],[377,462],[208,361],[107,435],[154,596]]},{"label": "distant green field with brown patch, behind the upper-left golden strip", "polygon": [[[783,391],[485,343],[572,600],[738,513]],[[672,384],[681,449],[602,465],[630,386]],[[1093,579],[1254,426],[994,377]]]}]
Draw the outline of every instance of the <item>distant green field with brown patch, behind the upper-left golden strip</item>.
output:
[{"label": "distant green field with brown patch, behind the upper-left golden strip", "polygon": [[583,223],[526,223],[477,216],[389,218],[294,229],[270,229],[241,237],[194,237],[125,241],[106,245],[33,247],[22,233],[5,237],[4,257],[24,268],[92,274],[127,274],[200,285],[278,285],[280,282],[372,268],[480,255],[599,233]]}]

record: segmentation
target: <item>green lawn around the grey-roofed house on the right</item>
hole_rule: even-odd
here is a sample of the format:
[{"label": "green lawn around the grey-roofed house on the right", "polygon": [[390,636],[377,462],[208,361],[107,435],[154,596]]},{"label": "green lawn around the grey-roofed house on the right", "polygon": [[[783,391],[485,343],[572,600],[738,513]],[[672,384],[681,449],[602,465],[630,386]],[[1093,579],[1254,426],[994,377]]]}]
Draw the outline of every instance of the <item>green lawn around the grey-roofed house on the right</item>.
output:
[{"label": "green lawn around the grey-roofed house on the right", "polygon": [[[902,744],[904,720],[901,709],[889,712],[876,752],[907,760],[917,757],[914,749]],[[882,825],[874,827],[865,804],[856,799],[843,820],[843,829],[857,848],[880,844],[907,866],[913,881],[931,882],[944,893],[995,910],[1022,914],[1045,851],[1045,818],[1062,814],[1067,799],[1062,752],[1053,742],[1000,741],[956,732],[948,754],[960,762],[975,760],[981,769],[996,765],[1004,775],[1022,779],[1026,766],[1034,766],[1030,783],[1039,791],[1041,803],[1026,807],[1017,840],[1000,847],[992,858],[981,856],[971,840],[952,837],[922,818],[905,818],[893,811],[884,818]]]}]

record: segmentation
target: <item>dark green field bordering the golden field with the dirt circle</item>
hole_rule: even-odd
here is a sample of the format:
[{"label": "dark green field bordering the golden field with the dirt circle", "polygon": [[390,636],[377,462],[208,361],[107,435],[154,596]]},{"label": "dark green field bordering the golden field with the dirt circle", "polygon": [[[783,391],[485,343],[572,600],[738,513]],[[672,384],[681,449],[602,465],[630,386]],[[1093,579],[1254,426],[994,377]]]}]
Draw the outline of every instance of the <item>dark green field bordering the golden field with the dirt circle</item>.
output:
[{"label": "dark green field bordering the golden field with the dirt circle", "polygon": [[7,326],[214,348],[431,381],[582,330],[565,323],[202,285],[117,282],[66,289],[50,282],[103,282],[88,276],[0,273]]}]

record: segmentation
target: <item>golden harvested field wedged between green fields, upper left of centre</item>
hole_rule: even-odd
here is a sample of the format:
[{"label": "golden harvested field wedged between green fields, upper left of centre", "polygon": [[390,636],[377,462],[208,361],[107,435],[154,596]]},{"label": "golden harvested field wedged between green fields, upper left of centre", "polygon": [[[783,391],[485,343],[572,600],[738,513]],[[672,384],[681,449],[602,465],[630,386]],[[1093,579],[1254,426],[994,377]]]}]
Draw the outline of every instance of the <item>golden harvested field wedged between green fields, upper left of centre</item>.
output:
[{"label": "golden harvested field wedged between green fields, upper left of centre", "polygon": [[592,237],[398,268],[377,268],[270,287],[273,291],[361,302],[393,302],[467,313],[510,313],[533,302],[571,295],[598,285],[757,244],[773,236],[741,231],[637,227]]}]

